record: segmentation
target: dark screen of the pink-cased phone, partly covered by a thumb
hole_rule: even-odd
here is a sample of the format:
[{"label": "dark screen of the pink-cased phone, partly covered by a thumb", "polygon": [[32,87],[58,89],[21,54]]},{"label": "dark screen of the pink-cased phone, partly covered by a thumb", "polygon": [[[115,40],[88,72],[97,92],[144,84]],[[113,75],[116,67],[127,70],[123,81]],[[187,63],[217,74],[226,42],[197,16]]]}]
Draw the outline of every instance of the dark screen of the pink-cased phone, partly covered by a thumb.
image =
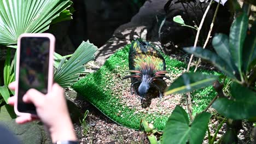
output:
[{"label": "dark screen of the pink-cased phone, partly covered by a thumb", "polygon": [[[20,40],[19,91],[17,109],[36,113],[33,104],[24,103],[24,94],[30,88],[46,94],[48,89],[50,39],[48,37],[22,37]],[[36,96],[36,95],[35,95]]]}]

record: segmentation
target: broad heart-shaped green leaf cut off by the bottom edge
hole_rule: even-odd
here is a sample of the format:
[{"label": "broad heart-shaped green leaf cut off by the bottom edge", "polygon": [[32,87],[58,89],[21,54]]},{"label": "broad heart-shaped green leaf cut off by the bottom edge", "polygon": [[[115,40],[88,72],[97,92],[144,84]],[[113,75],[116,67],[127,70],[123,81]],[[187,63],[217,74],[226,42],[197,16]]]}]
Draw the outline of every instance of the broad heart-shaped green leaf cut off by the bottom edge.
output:
[{"label": "broad heart-shaped green leaf cut off by the bottom edge", "polygon": [[161,143],[202,143],[210,117],[210,113],[202,112],[189,124],[188,114],[177,105],[166,123]]}]

